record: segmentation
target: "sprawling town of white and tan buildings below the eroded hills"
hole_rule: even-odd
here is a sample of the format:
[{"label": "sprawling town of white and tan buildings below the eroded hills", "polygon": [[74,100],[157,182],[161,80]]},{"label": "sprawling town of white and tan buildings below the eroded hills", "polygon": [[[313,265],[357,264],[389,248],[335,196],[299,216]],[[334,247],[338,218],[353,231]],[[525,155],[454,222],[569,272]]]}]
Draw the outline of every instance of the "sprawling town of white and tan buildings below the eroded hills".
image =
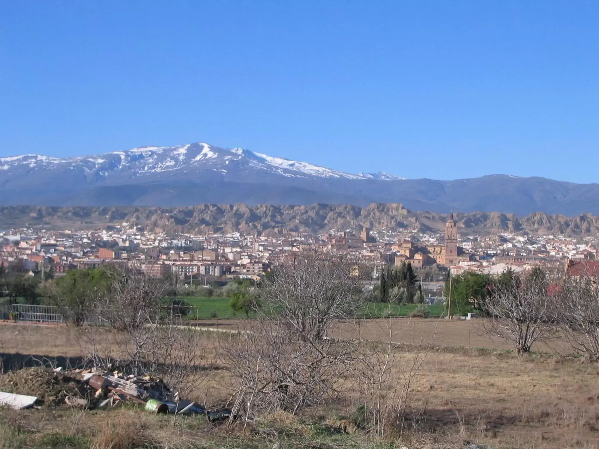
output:
[{"label": "sprawling town of white and tan buildings below the eroded hills", "polygon": [[294,254],[301,257],[305,251],[344,254],[348,260],[369,266],[373,280],[385,266],[404,263],[426,275],[438,274],[438,269],[450,269],[453,274],[471,271],[497,275],[506,270],[530,271],[536,266],[559,275],[573,262],[595,263],[599,259],[599,235],[463,235],[453,214],[444,229],[428,233],[359,226],[326,232],[200,235],[122,223],[88,230],[4,229],[0,230],[0,241],[4,241],[0,265],[30,275],[50,270],[61,277],[72,269],[117,264],[147,275],[174,274],[181,280],[195,277],[204,282],[208,278],[259,281],[271,267]]}]

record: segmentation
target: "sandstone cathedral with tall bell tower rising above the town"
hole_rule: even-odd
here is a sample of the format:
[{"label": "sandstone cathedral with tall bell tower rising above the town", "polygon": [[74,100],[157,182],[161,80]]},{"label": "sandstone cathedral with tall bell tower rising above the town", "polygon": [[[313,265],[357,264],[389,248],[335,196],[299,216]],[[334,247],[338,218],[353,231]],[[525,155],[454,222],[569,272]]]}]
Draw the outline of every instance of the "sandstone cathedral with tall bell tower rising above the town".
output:
[{"label": "sandstone cathedral with tall bell tower rising above the town", "polygon": [[463,253],[462,248],[458,247],[458,225],[453,219],[453,213],[445,223],[445,244],[417,247],[412,241],[406,239],[397,242],[391,248],[398,253],[395,256],[395,265],[410,262],[416,267],[435,263],[444,266],[457,265],[458,257]]}]

